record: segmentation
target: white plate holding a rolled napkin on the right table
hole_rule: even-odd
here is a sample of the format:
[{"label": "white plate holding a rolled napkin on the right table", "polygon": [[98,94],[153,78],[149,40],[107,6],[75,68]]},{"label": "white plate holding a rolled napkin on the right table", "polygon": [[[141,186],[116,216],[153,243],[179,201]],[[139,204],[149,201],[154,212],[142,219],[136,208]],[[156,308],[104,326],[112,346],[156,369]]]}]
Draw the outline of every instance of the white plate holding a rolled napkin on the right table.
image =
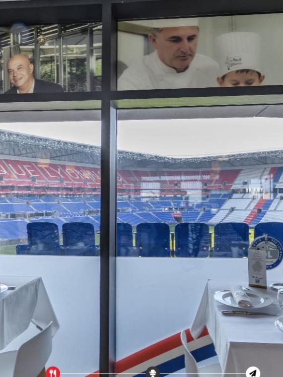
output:
[{"label": "white plate holding a rolled napkin on the right table", "polygon": [[[243,288],[245,293],[248,295],[249,299],[253,303],[252,308],[248,308],[249,310],[258,309],[258,308],[264,308],[270,304],[272,304],[272,298],[269,296],[261,296],[257,292],[251,291],[248,288]],[[243,307],[240,307],[236,301],[233,299],[232,293],[229,289],[225,289],[223,291],[215,292],[214,299],[218,301],[221,304],[231,306],[233,308],[238,309],[246,309]]]}]

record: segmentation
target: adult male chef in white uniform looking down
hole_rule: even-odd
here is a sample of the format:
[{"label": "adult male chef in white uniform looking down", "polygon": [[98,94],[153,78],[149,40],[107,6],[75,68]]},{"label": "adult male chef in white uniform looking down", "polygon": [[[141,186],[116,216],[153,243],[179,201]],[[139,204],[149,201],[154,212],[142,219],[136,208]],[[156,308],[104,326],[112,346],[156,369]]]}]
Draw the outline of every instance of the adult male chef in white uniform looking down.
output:
[{"label": "adult male chef in white uniform looking down", "polygon": [[198,18],[144,20],[155,51],[127,68],[118,90],[204,88],[217,86],[218,64],[197,54]]}]

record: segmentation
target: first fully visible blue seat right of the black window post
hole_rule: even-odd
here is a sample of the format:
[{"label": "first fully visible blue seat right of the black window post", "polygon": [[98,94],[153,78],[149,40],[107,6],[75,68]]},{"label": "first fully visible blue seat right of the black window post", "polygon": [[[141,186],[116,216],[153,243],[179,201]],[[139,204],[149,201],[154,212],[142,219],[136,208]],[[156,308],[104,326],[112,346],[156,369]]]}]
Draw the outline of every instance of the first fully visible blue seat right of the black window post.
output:
[{"label": "first fully visible blue seat right of the black window post", "polygon": [[141,256],[170,256],[170,229],[164,223],[137,225],[136,246]]}]

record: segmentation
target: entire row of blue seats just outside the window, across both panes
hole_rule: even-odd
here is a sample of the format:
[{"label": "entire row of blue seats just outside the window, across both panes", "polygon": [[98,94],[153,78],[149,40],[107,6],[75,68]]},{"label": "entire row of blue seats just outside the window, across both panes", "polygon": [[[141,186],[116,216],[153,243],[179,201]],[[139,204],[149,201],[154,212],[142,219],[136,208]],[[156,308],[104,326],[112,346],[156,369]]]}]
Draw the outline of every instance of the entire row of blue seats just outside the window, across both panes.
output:
[{"label": "entire row of blue seats just outside the window, across both panes", "polygon": [[[268,234],[283,244],[283,223],[260,223],[255,237]],[[175,227],[175,256],[207,257],[211,246],[209,226],[204,223],[180,223]],[[17,254],[98,255],[94,227],[90,223],[63,224],[63,246],[58,226],[48,222],[27,224],[27,245],[17,245]],[[214,227],[212,257],[244,257],[249,247],[249,227],[245,223],[219,223]],[[136,247],[133,228],[117,224],[118,256],[170,256],[170,228],[165,223],[137,225]]]}]

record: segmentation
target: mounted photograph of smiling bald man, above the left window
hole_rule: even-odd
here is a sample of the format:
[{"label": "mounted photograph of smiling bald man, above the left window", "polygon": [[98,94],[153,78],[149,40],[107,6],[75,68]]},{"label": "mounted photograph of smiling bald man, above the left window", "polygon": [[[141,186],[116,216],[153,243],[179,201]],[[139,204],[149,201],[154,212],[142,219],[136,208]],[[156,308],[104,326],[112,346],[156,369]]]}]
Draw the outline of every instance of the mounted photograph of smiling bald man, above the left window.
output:
[{"label": "mounted photograph of smiling bald man, above the left window", "polygon": [[0,27],[0,93],[101,89],[101,23]]}]

